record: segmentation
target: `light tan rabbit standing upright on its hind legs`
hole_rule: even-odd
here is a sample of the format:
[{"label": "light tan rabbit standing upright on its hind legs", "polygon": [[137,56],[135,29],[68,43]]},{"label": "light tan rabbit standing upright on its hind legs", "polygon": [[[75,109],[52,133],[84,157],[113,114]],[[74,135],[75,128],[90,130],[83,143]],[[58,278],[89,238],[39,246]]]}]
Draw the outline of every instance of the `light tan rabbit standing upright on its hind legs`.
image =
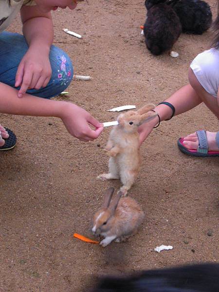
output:
[{"label": "light tan rabbit standing upright on its hind legs", "polygon": [[121,113],[113,126],[105,150],[110,156],[109,173],[100,174],[97,178],[103,180],[119,179],[123,183],[120,191],[124,196],[135,181],[140,170],[140,148],[138,127],[157,116],[150,111],[155,108],[147,104],[143,108]]}]

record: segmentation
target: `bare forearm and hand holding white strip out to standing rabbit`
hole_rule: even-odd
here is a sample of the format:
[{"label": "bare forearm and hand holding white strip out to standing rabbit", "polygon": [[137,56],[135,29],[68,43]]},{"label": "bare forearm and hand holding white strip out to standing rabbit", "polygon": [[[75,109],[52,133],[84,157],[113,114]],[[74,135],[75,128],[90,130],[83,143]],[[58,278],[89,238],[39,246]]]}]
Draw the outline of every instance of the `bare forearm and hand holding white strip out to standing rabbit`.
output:
[{"label": "bare forearm and hand holding white strip out to standing rabbit", "polygon": [[[58,117],[71,135],[85,142],[98,138],[103,130],[103,125],[89,112],[73,103],[44,99],[27,93],[22,98],[17,95],[16,89],[0,83],[1,113]],[[95,130],[91,130],[89,124],[93,125]]]}]

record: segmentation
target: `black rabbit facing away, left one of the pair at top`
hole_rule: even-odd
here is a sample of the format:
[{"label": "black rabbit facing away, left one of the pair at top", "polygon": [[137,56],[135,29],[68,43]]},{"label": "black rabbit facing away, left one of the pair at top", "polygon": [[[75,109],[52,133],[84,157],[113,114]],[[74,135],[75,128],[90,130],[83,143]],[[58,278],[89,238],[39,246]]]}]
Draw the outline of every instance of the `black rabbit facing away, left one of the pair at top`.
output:
[{"label": "black rabbit facing away, left one of the pair at top", "polygon": [[146,0],[147,18],[144,35],[147,49],[153,55],[170,53],[182,32],[176,12],[165,0]]}]

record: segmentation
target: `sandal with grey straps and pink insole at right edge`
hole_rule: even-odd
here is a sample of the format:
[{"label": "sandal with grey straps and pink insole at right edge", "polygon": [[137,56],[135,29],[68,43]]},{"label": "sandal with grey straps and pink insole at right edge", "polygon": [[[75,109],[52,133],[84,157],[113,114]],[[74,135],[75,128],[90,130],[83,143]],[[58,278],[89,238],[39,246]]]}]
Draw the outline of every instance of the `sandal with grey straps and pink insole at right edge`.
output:
[{"label": "sandal with grey straps and pink insole at right edge", "polygon": [[[208,151],[208,141],[206,137],[206,132],[204,130],[196,131],[198,139],[199,139],[199,147],[197,150],[188,149],[183,146],[184,137],[180,138],[177,141],[179,149],[190,156],[196,157],[219,157],[219,151]],[[216,142],[219,146],[219,132],[216,134]]]}]

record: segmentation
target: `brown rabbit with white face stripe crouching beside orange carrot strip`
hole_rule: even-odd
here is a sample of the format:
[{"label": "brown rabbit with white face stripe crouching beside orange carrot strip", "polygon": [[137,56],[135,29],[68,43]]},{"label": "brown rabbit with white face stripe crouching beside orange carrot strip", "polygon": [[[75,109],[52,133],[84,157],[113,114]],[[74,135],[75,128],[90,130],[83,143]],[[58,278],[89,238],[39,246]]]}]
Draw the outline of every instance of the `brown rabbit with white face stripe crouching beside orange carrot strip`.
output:
[{"label": "brown rabbit with white face stripe crouching beside orange carrot strip", "polygon": [[104,247],[134,235],[145,217],[140,205],[130,197],[122,197],[121,192],[111,201],[113,192],[113,187],[106,191],[104,203],[91,223],[93,234],[104,237],[100,242]]}]

